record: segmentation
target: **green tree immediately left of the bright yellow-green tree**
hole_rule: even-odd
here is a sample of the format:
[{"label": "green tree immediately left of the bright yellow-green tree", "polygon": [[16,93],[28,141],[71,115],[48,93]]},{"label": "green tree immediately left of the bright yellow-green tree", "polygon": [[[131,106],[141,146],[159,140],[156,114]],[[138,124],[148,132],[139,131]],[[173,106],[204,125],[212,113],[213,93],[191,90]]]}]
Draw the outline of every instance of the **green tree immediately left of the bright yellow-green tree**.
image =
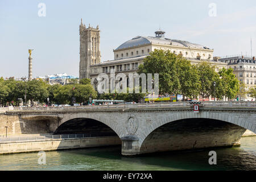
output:
[{"label": "green tree immediately left of the bright yellow-green tree", "polygon": [[[215,72],[215,67],[210,63],[204,61],[196,65],[197,72],[199,74],[200,90],[199,93],[203,98],[209,96],[216,96],[217,98],[222,98],[223,90],[220,77],[217,72]],[[216,82],[215,93],[213,82]]]}]

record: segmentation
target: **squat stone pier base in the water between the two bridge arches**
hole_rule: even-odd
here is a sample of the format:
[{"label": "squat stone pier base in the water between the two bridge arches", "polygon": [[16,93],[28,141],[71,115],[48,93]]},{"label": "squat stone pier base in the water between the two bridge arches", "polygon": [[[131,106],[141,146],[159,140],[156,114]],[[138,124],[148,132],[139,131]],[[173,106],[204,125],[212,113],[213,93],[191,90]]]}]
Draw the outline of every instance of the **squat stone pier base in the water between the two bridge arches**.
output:
[{"label": "squat stone pier base in the water between the two bridge arches", "polygon": [[122,140],[122,155],[137,155],[139,154],[139,138],[134,135],[127,135],[121,138]]}]

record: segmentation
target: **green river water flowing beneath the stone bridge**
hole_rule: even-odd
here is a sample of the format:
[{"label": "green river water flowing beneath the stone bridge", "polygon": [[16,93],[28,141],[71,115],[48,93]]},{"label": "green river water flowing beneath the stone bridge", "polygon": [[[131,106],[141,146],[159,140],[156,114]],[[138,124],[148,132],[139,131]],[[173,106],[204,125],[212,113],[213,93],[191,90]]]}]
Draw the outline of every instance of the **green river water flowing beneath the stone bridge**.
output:
[{"label": "green river water flowing beneath the stone bridge", "polygon": [[243,137],[241,147],[218,148],[217,165],[209,165],[210,150],[159,153],[137,157],[121,155],[121,146],[0,155],[0,170],[256,170],[256,137]]}]

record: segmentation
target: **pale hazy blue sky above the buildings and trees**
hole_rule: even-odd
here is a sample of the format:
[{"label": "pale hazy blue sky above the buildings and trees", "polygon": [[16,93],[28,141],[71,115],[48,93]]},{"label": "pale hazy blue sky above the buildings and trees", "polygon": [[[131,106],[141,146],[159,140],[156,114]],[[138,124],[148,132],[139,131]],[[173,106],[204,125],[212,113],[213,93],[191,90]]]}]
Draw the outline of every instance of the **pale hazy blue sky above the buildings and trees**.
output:
[{"label": "pale hazy blue sky above the buildings and trees", "polygon": [[[38,16],[45,3],[46,16]],[[217,6],[209,16],[210,3]],[[102,60],[135,36],[155,36],[214,48],[214,56],[256,55],[256,1],[13,1],[0,0],[0,76],[28,75],[28,48],[33,77],[54,73],[79,76],[79,24],[101,30]]]}]

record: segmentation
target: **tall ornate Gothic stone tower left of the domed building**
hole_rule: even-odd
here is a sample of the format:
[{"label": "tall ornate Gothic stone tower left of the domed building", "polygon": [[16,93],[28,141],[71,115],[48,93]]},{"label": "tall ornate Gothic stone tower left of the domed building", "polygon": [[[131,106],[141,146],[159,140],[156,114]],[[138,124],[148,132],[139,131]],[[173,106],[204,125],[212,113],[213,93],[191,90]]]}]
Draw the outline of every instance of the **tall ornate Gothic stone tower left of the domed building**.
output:
[{"label": "tall ornate Gothic stone tower left of the domed building", "polygon": [[100,30],[97,28],[86,28],[80,24],[80,65],[79,78],[90,78],[90,65],[100,64]]}]

